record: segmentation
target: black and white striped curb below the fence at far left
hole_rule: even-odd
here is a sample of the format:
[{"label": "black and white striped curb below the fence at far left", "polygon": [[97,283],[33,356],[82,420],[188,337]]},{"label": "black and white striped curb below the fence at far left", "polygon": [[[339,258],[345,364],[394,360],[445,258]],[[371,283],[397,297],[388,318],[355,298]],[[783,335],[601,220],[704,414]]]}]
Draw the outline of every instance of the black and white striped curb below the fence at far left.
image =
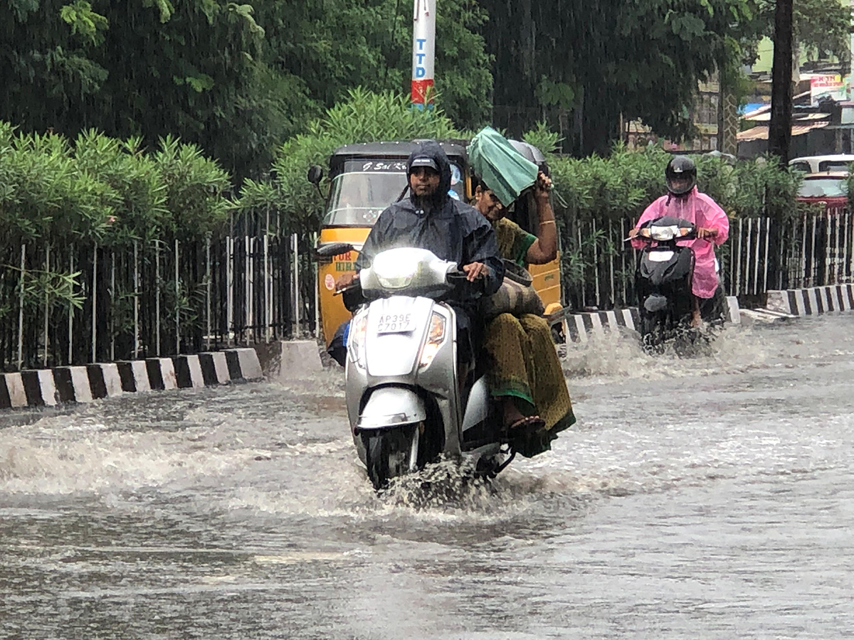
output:
[{"label": "black and white striped curb below the fence at far left", "polygon": [[0,374],[0,409],[91,402],[121,393],[143,393],[260,380],[252,348],[173,358],[86,364]]}]

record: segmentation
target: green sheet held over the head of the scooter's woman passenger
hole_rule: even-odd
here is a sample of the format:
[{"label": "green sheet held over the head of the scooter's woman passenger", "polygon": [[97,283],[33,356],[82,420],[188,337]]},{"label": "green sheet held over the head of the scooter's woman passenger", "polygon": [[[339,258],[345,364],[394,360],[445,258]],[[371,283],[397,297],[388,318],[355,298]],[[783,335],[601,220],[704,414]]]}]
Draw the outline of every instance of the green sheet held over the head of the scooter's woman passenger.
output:
[{"label": "green sheet held over the head of the scooter's woman passenger", "polygon": [[537,166],[492,127],[471,138],[468,153],[471,168],[505,207],[536,182]]}]

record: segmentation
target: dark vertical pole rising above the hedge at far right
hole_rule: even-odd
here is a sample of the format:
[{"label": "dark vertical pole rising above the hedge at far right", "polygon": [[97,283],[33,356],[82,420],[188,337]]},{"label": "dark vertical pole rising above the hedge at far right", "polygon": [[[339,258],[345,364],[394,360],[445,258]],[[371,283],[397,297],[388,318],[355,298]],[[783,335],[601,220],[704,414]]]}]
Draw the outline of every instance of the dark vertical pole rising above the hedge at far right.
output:
[{"label": "dark vertical pole rising above the hedge at far right", "polygon": [[792,41],[792,0],[777,0],[768,152],[777,157],[780,166],[788,163],[792,141]]}]

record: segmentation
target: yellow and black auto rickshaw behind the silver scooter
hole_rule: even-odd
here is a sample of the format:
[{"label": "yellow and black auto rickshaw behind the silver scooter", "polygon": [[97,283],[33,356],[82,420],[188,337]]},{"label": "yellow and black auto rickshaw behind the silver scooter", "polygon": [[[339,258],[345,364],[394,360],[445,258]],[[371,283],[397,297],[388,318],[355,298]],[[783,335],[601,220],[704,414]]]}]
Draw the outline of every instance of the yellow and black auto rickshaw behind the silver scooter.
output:
[{"label": "yellow and black auto rickshaw behind the silver scooter", "polygon": [[[471,169],[465,153],[465,141],[441,142],[448,159],[451,161],[451,189],[454,197],[471,202],[473,186]],[[517,147],[519,152],[529,157],[530,147]],[[320,230],[318,247],[332,243],[344,243],[353,247],[352,251],[332,258],[319,259],[318,288],[320,303],[320,323],[329,346],[342,323],[348,321],[351,314],[344,307],[341,296],[334,295],[335,283],[339,276],[353,273],[354,261],[365,243],[371,227],[379,214],[392,202],[398,200],[407,188],[407,158],[415,150],[417,143],[356,143],[348,144],[336,150],[330,156],[330,192],[326,201],[326,213]],[[545,159],[540,154],[542,166]],[[531,158],[529,157],[529,160]],[[319,167],[313,167],[309,179],[319,183],[322,173]],[[536,212],[518,204],[508,216],[525,230],[535,232]],[[547,265],[531,265],[534,286],[540,294],[546,313],[552,314],[561,308],[559,257]]]}]

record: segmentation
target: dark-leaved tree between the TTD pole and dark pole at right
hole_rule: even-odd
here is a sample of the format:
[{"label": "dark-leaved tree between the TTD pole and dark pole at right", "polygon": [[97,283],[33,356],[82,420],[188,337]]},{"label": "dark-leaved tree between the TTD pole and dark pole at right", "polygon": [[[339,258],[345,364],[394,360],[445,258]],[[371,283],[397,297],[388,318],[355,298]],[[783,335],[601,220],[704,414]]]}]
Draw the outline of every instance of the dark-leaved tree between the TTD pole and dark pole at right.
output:
[{"label": "dark-leaved tree between the TTD pole and dark pole at right", "polygon": [[[495,121],[513,135],[550,111],[575,114],[564,149],[608,153],[620,115],[680,137],[699,80],[753,23],[752,0],[484,0]],[[570,131],[566,129],[569,128]]]}]

